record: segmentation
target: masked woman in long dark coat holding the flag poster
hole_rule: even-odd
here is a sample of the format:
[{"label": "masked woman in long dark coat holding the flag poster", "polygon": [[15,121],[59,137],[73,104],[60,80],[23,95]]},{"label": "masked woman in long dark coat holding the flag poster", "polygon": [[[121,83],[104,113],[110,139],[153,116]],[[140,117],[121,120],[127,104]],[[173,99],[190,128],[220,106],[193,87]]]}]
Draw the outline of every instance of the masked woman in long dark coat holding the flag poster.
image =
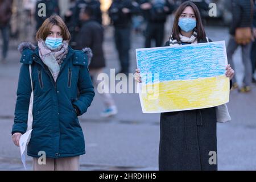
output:
[{"label": "masked woman in long dark coat holding the flag poster", "polygon": [[[212,42],[205,35],[199,9],[191,1],[176,11],[166,46]],[[185,56],[185,55],[184,55]],[[227,65],[226,77],[234,71]],[[141,82],[136,69],[135,80]],[[217,170],[209,164],[209,152],[217,153],[216,107],[160,114],[159,170]]]}]

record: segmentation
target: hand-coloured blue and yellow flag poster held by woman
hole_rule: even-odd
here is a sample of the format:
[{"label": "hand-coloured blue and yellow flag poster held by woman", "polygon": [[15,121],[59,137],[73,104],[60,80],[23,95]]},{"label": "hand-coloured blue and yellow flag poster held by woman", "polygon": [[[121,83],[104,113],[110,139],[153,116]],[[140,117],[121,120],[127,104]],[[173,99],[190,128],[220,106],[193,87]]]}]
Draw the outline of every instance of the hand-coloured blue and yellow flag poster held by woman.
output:
[{"label": "hand-coloured blue and yellow flag poster held by woman", "polygon": [[202,109],[229,101],[225,42],[136,49],[143,113]]}]

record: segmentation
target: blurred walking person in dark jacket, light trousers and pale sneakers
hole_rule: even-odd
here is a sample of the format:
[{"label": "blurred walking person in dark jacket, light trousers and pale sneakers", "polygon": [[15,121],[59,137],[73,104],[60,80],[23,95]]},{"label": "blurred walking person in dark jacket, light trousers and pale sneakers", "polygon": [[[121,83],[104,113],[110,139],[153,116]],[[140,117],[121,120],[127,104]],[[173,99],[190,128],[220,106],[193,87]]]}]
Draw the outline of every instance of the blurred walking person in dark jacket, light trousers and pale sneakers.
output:
[{"label": "blurred walking person in dark jacket, light trousers and pale sneakers", "polygon": [[[89,64],[90,76],[97,89],[101,80],[98,80],[98,75],[103,73],[105,67],[105,57],[102,44],[104,42],[104,28],[96,20],[92,18],[93,9],[90,6],[86,6],[85,9],[81,9],[80,20],[82,27],[77,35],[76,49],[82,49],[83,47],[89,47],[92,49],[93,57]],[[101,117],[110,117],[117,114],[117,107],[114,100],[109,93],[105,93],[100,90],[100,96],[106,109],[101,113]]]}]

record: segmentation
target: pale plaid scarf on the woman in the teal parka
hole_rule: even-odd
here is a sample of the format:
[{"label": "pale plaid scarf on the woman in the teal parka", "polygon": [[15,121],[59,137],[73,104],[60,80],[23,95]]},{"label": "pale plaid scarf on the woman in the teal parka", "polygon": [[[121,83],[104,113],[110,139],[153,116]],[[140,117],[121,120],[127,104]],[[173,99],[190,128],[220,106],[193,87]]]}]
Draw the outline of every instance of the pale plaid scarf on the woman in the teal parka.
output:
[{"label": "pale plaid scarf on the woman in the teal parka", "polygon": [[40,58],[43,63],[47,65],[53,80],[56,82],[60,72],[60,65],[68,54],[68,42],[63,41],[59,47],[52,50],[46,46],[46,43],[43,40],[39,40],[38,47]]}]

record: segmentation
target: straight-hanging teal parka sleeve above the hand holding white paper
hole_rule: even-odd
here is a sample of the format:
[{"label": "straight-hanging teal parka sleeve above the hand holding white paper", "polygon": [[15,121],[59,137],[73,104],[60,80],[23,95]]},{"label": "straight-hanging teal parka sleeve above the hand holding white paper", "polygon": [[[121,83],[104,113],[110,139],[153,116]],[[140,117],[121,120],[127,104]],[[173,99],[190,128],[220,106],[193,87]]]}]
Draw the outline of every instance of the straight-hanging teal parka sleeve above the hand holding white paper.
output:
[{"label": "straight-hanging teal parka sleeve above the hand holding white paper", "polygon": [[28,107],[30,105],[31,96],[31,82],[30,73],[27,64],[22,64],[19,72],[18,89],[16,92],[16,105],[14,113],[14,124],[12,134],[26,133],[27,130],[27,117]]}]

